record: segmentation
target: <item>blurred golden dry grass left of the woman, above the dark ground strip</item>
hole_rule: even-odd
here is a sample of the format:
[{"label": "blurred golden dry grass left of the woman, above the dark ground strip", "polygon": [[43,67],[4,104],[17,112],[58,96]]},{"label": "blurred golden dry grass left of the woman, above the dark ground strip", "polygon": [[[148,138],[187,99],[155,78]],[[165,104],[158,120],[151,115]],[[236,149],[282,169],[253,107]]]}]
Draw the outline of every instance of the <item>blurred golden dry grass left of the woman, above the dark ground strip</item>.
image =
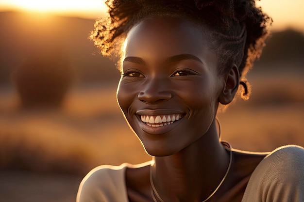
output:
[{"label": "blurred golden dry grass left of the woman, above the dark ground strip", "polygon": [[100,164],[150,159],[112,90],[72,91],[57,111],[18,111],[16,94],[7,96],[15,106],[0,103],[0,168],[85,174]]}]

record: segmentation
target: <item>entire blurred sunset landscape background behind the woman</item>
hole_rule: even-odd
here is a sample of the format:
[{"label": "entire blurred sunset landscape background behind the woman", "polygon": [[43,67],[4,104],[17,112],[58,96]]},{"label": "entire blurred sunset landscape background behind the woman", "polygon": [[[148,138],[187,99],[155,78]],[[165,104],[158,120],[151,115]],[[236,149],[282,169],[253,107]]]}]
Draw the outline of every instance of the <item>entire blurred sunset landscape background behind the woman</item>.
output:
[{"label": "entire blurred sunset landscape background behind the woman", "polygon": [[[304,146],[303,0],[256,1],[271,36],[252,95],[219,113],[233,148]],[[119,72],[87,39],[102,0],[0,0],[0,201],[74,202],[101,164],[150,160],[116,102]]]}]

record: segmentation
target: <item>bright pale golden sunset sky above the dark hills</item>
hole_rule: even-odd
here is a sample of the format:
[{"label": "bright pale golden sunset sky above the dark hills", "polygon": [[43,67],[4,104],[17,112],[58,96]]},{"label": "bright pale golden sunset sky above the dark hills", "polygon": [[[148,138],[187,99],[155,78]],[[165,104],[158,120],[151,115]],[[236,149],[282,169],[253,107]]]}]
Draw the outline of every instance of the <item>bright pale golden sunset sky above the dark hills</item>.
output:
[{"label": "bright pale golden sunset sky above the dark hills", "polygon": [[[304,32],[304,0],[256,1],[273,18],[273,30],[288,27]],[[104,14],[103,0],[0,0],[1,11],[28,11],[96,19]]]}]

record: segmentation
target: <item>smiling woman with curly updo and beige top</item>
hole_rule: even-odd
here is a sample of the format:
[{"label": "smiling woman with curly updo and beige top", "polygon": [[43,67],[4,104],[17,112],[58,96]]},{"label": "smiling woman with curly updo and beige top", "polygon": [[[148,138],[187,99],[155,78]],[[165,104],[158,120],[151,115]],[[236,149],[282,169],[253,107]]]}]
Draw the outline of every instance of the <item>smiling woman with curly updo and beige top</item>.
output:
[{"label": "smiling woman with curly updo and beige top", "polygon": [[95,168],[78,202],[304,201],[303,148],[250,153],[219,140],[219,104],[231,103],[239,84],[248,95],[240,78],[271,21],[253,0],[107,5],[110,18],[91,37],[104,55],[120,56],[118,103],[153,160]]}]

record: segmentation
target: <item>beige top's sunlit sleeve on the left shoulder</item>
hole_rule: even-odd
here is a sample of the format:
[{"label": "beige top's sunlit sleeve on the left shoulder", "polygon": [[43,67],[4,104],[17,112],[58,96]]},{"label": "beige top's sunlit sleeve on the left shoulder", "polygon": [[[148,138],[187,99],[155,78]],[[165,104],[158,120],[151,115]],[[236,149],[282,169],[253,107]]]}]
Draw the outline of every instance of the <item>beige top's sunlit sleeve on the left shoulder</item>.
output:
[{"label": "beige top's sunlit sleeve on the left shoulder", "polygon": [[79,186],[76,202],[128,202],[126,166],[99,166],[90,171]]}]

